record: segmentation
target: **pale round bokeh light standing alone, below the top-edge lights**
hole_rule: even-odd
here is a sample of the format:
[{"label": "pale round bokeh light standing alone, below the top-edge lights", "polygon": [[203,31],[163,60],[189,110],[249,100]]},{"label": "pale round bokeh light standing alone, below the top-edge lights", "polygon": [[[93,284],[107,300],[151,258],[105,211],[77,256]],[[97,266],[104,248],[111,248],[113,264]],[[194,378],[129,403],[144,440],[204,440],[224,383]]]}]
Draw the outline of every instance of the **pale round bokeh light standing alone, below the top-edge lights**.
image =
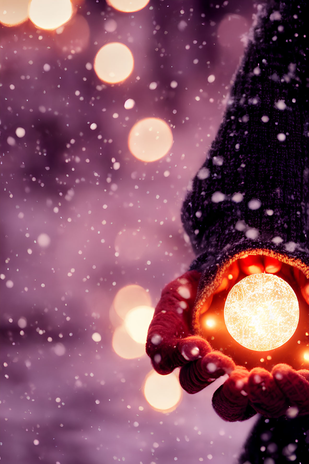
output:
[{"label": "pale round bokeh light standing alone, below the top-edge lights", "polygon": [[94,70],[108,84],[122,82],[133,71],[134,59],[126,45],[119,42],[103,45],[94,59]]}]

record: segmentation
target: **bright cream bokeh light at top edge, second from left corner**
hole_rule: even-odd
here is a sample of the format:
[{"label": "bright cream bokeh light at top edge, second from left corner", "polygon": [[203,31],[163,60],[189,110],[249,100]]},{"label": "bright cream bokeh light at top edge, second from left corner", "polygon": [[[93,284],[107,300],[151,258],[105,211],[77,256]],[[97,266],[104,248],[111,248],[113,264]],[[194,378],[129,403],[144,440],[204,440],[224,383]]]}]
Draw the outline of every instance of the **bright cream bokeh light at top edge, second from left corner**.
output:
[{"label": "bright cream bokeh light at top edge, second from left corner", "polygon": [[39,29],[54,30],[69,21],[72,13],[70,0],[31,0],[28,15]]}]

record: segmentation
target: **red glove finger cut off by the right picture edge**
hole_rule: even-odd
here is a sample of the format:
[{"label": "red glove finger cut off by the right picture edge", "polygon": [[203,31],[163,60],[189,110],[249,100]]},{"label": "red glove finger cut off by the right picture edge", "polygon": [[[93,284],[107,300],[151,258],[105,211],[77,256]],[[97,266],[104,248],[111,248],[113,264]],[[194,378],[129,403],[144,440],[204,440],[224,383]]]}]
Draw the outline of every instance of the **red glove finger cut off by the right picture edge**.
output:
[{"label": "red glove finger cut off by the right picture edge", "polygon": [[290,405],[296,406],[301,415],[309,414],[309,381],[287,364],[277,364],[272,375]]}]

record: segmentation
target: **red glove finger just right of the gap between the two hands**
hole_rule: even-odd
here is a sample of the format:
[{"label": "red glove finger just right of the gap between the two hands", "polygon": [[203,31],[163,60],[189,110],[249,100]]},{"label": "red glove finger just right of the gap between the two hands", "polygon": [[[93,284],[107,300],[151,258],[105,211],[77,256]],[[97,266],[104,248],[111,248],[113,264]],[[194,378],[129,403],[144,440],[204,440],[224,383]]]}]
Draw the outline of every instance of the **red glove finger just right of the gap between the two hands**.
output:
[{"label": "red glove finger just right of the gap between the two hands", "polygon": [[248,394],[244,390],[248,375],[245,367],[236,366],[230,377],[213,394],[212,406],[221,419],[235,422],[256,414],[248,404]]}]

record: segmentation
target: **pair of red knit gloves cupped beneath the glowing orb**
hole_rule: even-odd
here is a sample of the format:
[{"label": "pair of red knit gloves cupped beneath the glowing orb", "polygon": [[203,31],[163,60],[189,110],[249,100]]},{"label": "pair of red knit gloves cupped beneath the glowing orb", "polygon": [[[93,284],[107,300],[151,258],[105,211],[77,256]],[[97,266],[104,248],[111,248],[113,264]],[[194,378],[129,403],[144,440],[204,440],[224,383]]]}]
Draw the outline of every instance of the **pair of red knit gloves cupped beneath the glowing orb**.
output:
[{"label": "pair of red knit gloves cupped beneath the glowing orb", "polygon": [[248,372],[231,358],[214,351],[199,336],[190,335],[189,321],[200,273],[188,271],[162,291],[148,329],[146,352],[159,374],[180,367],[180,385],[197,393],[224,374],[229,378],[216,390],[212,406],[227,421],[245,420],[256,412],[266,417],[309,414],[309,371],[277,364],[272,372],[255,367]]}]

